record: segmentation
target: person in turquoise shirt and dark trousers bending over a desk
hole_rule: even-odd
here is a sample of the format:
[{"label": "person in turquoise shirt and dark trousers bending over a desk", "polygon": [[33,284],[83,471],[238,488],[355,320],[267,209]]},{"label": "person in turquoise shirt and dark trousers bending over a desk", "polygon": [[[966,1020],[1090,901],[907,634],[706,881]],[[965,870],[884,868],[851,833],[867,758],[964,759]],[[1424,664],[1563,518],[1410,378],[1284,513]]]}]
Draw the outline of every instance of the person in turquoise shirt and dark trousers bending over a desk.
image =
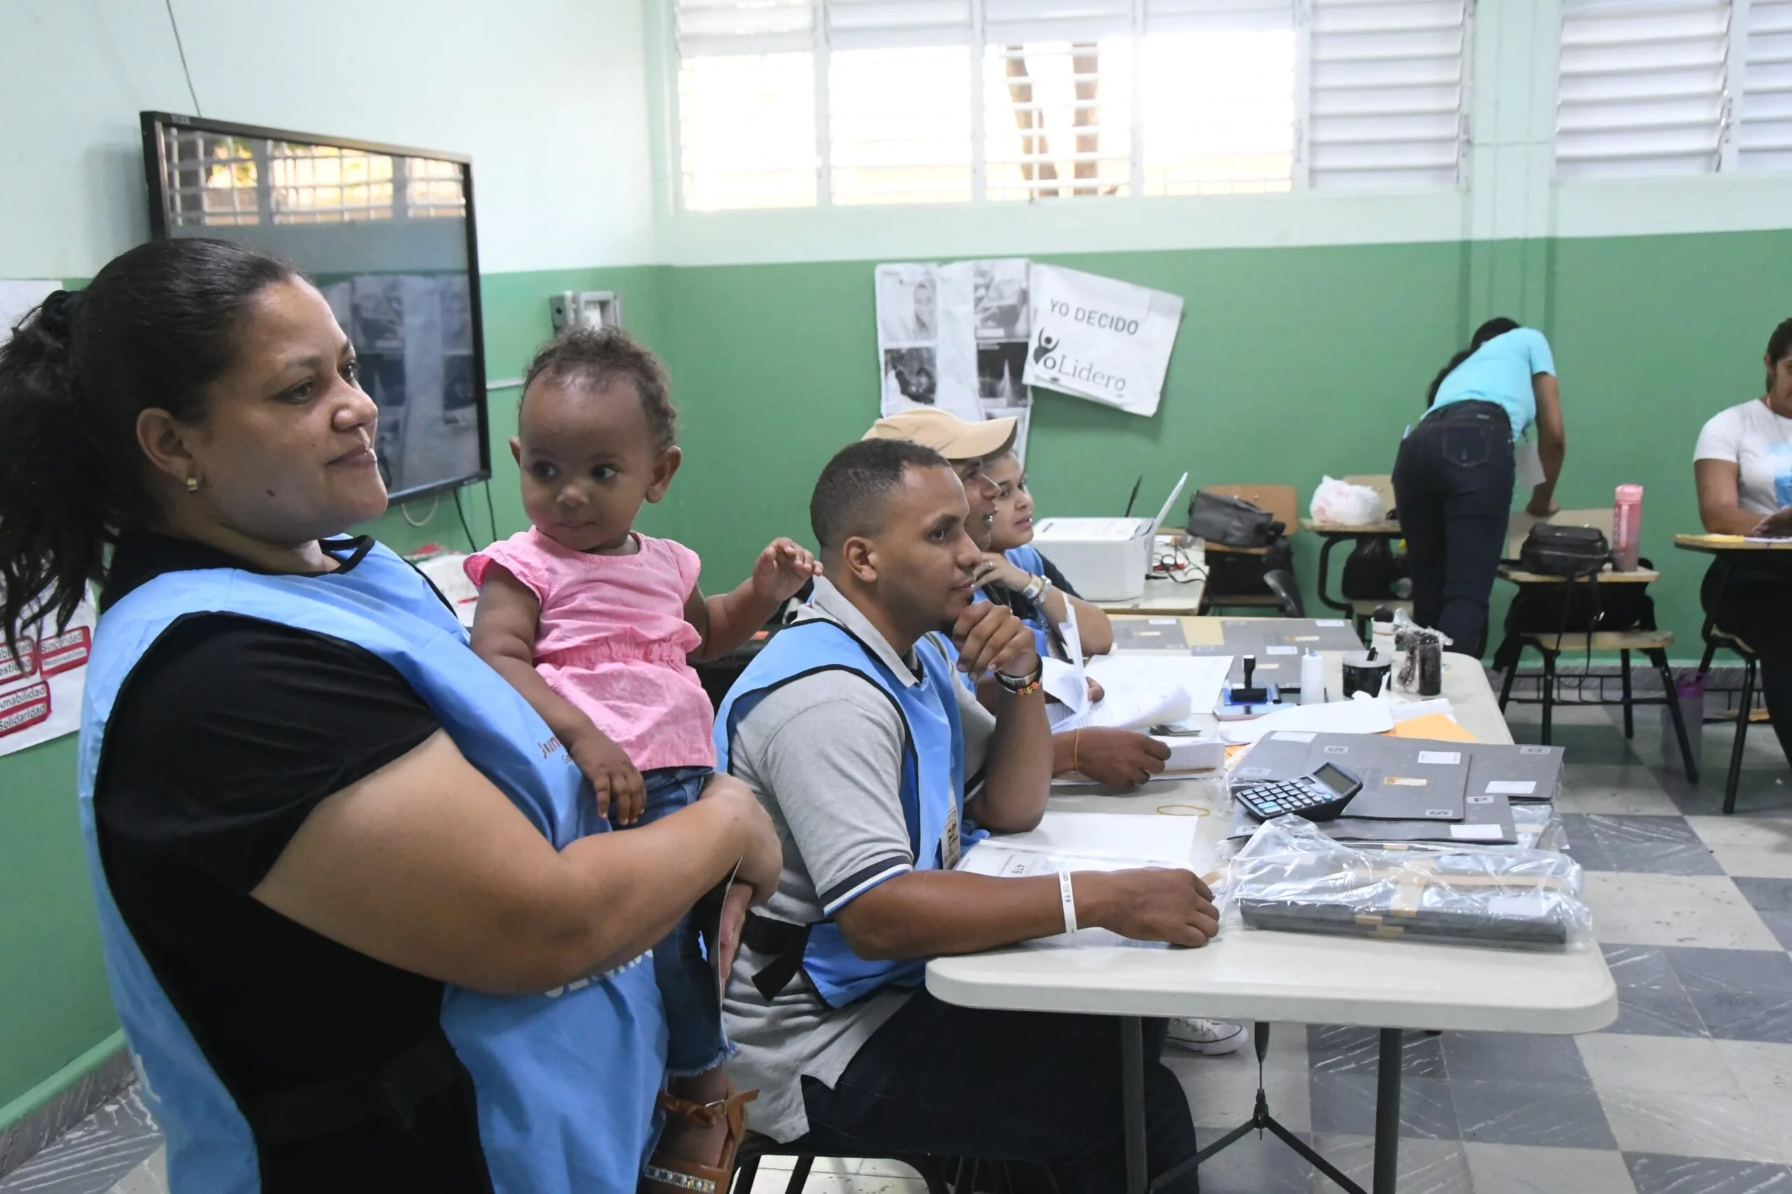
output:
[{"label": "person in turquoise shirt and dark trousers bending over a desk", "polygon": [[1539,518],[1557,509],[1566,437],[1550,342],[1512,319],[1489,319],[1439,371],[1426,405],[1394,461],[1412,619],[1478,656],[1487,645],[1487,597],[1512,509],[1512,445],[1532,427],[1543,480],[1525,509]]}]

